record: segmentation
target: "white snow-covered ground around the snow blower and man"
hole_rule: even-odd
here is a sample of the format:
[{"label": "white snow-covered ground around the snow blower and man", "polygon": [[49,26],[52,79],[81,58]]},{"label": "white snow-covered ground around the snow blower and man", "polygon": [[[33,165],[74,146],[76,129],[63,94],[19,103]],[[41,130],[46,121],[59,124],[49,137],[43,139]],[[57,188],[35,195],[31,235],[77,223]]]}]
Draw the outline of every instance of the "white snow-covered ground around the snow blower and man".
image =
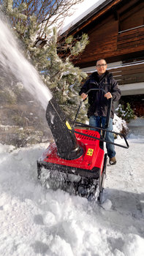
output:
[{"label": "white snow-covered ground around the snow blower and man", "polygon": [[0,145],[1,256],[143,256],[144,137],[130,136],[107,165],[104,203],[37,183],[37,159],[48,145]]}]

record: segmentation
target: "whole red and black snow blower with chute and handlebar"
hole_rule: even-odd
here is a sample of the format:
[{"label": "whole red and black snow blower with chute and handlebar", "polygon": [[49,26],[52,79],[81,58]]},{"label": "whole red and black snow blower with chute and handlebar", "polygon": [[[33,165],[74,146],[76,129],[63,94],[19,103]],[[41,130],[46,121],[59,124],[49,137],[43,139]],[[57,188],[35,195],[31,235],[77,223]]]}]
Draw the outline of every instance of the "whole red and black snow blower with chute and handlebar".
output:
[{"label": "whole red and black snow blower with chute and handlebar", "polygon": [[[86,94],[99,90],[106,94],[103,89],[90,89]],[[50,99],[46,119],[55,143],[51,143],[37,161],[38,180],[43,185],[52,189],[64,189],[89,199],[97,198],[100,203],[102,202],[107,166],[104,143],[111,143],[105,140],[105,135],[110,121],[112,98],[107,99],[107,103],[108,111],[104,129],[76,121],[83,99],[74,121],[69,120],[55,99]],[[108,132],[120,135],[126,143],[124,146],[117,143],[111,144],[129,148],[124,135],[113,131]]]}]

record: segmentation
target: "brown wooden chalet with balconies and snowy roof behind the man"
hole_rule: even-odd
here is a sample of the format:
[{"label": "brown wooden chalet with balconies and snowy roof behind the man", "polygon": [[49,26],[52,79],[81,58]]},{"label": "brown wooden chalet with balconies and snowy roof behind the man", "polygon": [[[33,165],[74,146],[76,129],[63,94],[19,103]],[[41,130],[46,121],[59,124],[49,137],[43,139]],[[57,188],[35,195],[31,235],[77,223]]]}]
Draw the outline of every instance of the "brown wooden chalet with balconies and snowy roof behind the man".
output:
[{"label": "brown wooden chalet with balconies and snowy roof behind the man", "polygon": [[96,59],[106,59],[121,88],[121,100],[130,101],[137,116],[144,116],[144,1],[101,3],[69,28],[69,34],[86,33],[90,41],[74,64],[90,74]]}]

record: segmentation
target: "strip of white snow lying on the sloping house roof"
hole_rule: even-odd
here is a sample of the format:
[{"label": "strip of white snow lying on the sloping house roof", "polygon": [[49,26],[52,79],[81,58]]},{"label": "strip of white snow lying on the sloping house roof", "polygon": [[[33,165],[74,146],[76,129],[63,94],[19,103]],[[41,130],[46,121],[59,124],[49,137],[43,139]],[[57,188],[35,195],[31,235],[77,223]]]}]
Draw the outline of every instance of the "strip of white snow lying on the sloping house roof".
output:
[{"label": "strip of white snow lying on the sloping house roof", "polygon": [[79,22],[80,20],[82,20],[84,17],[86,17],[86,15],[88,15],[89,13],[91,13],[93,10],[95,10],[97,7],[99,7],[102,3],[104,3],[106,0],[99,0],[97,1],[95,4],[93,4],[90,8],[88,8],[88,10],[86,10],[85,12],[81,13],[81,15],[79,15],[77,18],[75,18],[74,20],[72,20],[72,22],[68,23],[67,26],[64,26],[64,28],[61,30],[61,34],[63,34],[65,31],[67,31],[69,28],[71,28],[72,26],[74,26],[77,22]]}]

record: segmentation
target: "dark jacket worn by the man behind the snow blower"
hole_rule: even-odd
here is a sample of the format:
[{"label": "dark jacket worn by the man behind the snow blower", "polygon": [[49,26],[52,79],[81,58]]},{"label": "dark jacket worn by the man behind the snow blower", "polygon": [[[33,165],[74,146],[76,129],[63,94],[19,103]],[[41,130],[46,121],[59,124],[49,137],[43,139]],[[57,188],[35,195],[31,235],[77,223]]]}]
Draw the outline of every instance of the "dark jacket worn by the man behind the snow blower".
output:
[{"label": "dark jacket worn by the man behind the snow blower", "polygon": [[[92,73],[88,80],[86,80],[86,83],[83,84],[79,95],[83,94],[83,92],[86,93],[89,89],[93,88],[102,88],[106,92],[110,91],[113,96],[113,102],[118,101],[121,98],[121,91],[118,87],[118,83],[108,71],[100,77],[97,72]],[[90,93],[88,93],[88,103],[88,118],[94,115],[107,116],[108,100],[104,97],[102,91],[90,91]],[[112,104],[110,117],[113,118],[113,116],[114,107]]]}]

